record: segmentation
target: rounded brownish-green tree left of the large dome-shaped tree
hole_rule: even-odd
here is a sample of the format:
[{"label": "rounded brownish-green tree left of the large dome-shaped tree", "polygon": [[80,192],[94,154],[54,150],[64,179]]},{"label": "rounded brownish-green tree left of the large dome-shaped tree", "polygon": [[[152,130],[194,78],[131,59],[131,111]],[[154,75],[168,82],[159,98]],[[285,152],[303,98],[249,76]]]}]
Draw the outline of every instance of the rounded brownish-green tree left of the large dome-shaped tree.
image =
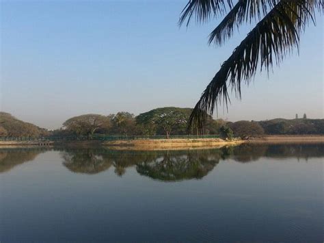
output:
[{"label": "rounded brownish-green tree left of the large dome-shaped tree", "polygon": [[66,120],[63,126],[64,129],[74,133],[76,136],[92,138],[96,131],[109,129],[110,120],[107,116],[86,114]]}]

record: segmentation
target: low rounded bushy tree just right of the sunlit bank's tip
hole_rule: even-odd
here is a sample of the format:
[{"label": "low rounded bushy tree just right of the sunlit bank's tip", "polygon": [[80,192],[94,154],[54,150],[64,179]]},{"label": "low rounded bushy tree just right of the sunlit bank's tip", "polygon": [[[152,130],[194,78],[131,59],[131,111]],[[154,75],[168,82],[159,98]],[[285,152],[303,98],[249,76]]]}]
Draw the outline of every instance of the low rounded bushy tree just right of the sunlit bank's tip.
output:
[{"label": "low rounded bushy tree just right of the sunlit bank's tip", "polygon": [[264,135],[265,130],[256,122],[249,122],[247,120],[240,120],[231,125],[234,134],[243,140],[249,138],[258,138]]}]

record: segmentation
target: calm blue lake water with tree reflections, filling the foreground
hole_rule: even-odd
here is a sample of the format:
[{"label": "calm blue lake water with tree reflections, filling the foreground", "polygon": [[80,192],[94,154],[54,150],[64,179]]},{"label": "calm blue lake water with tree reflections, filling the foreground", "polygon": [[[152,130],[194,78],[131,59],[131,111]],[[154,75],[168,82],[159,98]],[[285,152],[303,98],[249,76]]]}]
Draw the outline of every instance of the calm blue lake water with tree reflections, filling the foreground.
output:
[{"label": "calm blue lake water with tree reflections, filling the foreground", "polygon": [[323,242],[324,144],[1,149],[0,242]]}]

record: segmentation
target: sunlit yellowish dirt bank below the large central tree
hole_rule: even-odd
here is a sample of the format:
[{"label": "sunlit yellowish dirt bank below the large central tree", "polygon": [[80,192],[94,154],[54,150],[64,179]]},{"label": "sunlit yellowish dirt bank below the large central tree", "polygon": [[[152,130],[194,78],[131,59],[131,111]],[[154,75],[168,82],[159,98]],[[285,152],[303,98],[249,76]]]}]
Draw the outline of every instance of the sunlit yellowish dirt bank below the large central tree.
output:
[{"label": "sunlit yellowish dirt bank below the large central tree", "polygon": [[241,144],[242,140],[226,141],[219,138],[201,138],[201,139],[158,139],[158,140],[118,140],[104,142],[103,145],[112,149],[211,149],[215,147]]}]

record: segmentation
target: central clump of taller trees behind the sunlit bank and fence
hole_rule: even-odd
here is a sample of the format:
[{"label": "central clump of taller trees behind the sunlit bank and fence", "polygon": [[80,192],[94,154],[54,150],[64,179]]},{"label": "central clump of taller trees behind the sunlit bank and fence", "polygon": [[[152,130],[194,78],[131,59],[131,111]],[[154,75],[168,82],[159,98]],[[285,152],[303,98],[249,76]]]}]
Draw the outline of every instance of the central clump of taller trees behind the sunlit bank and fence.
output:
[{"label": "central clump of taller trees behind the sunlit bank and fence", "polygon": [[[165,136],[196,134],[188,131],[191,108],[161,107],[135,116],[129,112],[118,112],[103,116],[85,114],[75,116],[63,123],[63,127],[53,131],[53,136],[87,136],[94,134],[122,136]],[[224,120],[208,117],[204,134],[219,134],[219,129],[226,125]]]}]

